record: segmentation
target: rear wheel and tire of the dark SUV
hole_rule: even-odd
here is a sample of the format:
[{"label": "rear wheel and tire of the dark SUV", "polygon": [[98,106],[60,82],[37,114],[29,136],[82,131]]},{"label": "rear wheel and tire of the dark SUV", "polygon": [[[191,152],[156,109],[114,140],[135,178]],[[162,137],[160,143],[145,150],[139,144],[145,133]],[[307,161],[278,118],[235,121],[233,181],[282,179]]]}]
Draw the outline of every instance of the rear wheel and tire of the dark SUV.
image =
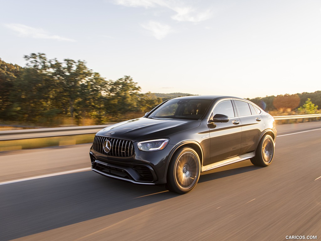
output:
[{"label": "rear wheel and tire of the dark SUV", "polygon": [[255,157],[251,158],[251,162],[256,166],[268,166],[271,164],[274,156],[274,141],[270,135],[265,135],[260,140],[256,148]]}]

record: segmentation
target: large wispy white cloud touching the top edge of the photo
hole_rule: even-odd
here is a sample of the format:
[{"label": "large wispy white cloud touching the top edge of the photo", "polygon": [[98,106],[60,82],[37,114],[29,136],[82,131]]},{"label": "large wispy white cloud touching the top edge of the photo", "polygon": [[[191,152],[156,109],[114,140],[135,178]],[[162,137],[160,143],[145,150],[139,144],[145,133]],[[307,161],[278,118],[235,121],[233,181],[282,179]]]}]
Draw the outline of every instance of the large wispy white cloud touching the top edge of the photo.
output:
[{"label": "large wispy white cloud touching the top edge of the photo", "polygon": [[182,0],[116,0],[116,4],[126,7],[165,7],[176,13],[172,19],[179,22],[201,22],[212,17],[210,9],[199,12]]}]

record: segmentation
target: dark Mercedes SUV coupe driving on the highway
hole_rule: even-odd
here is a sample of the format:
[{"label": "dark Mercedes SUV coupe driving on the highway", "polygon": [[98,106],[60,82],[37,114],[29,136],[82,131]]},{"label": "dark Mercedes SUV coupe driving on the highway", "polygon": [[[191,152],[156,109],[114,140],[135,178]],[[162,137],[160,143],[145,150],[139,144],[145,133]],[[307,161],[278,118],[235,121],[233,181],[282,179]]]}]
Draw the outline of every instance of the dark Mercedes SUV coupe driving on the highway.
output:
[{"label": "dark Mercedes SUV coupe driving on the highway", "polygon": [[191,191],[200,173],[250,159],[272,162],[273,117],[256,104],[229,96],[167,100],[142,118],[100,130],[90,149],[91,169],[139,184]]}]

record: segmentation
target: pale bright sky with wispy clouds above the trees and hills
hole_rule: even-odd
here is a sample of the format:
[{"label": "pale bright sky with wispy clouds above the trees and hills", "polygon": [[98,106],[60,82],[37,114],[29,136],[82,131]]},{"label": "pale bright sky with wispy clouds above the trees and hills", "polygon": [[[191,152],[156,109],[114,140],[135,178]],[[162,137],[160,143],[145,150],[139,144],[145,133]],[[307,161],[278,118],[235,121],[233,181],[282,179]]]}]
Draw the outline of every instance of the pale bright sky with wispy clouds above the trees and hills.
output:
[{"label": "pale bright sky with wispy clouds above the trees and hills", "polygon": [[141,92],[321,90],[321,1],[0,0],[0,58],[84,60]]}]

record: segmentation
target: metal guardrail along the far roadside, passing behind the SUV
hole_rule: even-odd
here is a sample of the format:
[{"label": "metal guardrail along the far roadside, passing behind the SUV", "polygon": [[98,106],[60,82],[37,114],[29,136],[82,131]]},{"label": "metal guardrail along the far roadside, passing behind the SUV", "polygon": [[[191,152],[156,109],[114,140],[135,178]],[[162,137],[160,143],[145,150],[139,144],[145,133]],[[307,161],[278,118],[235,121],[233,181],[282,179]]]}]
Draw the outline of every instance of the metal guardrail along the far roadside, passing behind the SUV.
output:
[{"label": "metal guardrail along the far roadside, passing behind the SUV", "polygon": [[[296,119],[297,121],[302,120],[304,122],[305,120],[320,120],[321,114],[274,116],[274,119],[276,121]],[[110,125],[4,130],[0,131],[0,141],[95,134],[100,129],[103,129],[107,126]]]}]

